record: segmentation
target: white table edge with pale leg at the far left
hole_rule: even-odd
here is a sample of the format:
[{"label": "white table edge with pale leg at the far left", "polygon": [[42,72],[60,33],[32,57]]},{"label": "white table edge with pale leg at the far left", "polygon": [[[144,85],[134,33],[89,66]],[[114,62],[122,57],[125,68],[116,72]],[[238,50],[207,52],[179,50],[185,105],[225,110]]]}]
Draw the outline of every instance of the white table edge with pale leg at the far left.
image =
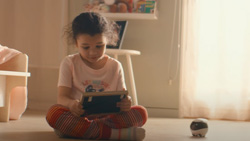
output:
[{"label": "white table edge with pale leg at the far left", "polygon": [[18,71],[0,71],[0,107],[4,107],[5,94],[6,94],[6,78],[8,76],[29,77],[29,72]]}]

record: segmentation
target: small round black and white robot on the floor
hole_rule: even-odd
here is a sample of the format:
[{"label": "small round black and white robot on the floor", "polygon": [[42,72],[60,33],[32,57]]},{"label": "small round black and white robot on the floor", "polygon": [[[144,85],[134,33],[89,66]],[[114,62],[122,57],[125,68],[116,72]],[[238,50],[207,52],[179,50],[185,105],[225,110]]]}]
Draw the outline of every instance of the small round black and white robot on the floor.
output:
[{"label": "small round black and white robot on the floor", "polygon": [[190,125],[192,135],[195,137],[205,137],[208,131],[207,119],[197,118]]}]

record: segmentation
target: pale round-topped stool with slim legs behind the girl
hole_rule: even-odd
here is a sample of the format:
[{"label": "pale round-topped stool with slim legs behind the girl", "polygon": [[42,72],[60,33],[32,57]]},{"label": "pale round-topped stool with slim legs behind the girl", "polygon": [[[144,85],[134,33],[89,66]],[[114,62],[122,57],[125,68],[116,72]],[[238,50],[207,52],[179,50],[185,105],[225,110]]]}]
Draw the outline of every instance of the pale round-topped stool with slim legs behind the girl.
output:
[{"label": "pale round-topped stool with slim legs behind the girl", "polygon": [[133,99],[133,104],[138,105],[131,55],[140,55],[141,52],[137,51],[137,50],[128,50],[128,49],[107,49],[106,53],[114,55],[114,58],[117,60],[118,60],[118,55],[125,55],[126,56],[129,81],[130,81],[131,92],[132,92],[131,96]]}]

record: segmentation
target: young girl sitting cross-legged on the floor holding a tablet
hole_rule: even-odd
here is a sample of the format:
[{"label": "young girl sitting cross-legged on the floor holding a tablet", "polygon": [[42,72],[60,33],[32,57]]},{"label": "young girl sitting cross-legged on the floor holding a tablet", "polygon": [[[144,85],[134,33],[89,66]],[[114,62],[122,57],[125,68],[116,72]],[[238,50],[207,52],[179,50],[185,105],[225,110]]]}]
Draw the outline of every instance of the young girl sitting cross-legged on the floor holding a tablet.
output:
[{"label": "young girl sitting cross-legged on the floor holding a tablet", "polygon": [[115,44],[115,22],[100,14],[87,12],[72,22],[71,37],[78,53],[61,63],[58,81],[58,104],[47,114],[47,122],[60,137],[82,139],[143,140],[141,128],[147,120],[142,106],[131,106],[127,96],[117,103],[118,114],[85,115],[80,104],[84,92],[122,91],[126,89],[120,62],[105,54],[107,44]]}]

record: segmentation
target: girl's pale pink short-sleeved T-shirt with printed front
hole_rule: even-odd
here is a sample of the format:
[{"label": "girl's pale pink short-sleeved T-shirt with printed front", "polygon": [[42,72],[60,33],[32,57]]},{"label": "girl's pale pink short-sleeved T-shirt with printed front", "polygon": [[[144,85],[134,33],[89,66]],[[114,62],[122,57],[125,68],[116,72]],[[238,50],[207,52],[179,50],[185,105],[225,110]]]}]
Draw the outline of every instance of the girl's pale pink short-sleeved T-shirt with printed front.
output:
[{"label": "girl's pale pink short-sleeved T-shirt with printed front", "polygon": [[72,98],[83,92],[122,91],[126,89],[124,72],[119,61],[108,56],[103,68],[87,66],[79,53],[68,55],[60,65],[58,86],[72,88]]}]

